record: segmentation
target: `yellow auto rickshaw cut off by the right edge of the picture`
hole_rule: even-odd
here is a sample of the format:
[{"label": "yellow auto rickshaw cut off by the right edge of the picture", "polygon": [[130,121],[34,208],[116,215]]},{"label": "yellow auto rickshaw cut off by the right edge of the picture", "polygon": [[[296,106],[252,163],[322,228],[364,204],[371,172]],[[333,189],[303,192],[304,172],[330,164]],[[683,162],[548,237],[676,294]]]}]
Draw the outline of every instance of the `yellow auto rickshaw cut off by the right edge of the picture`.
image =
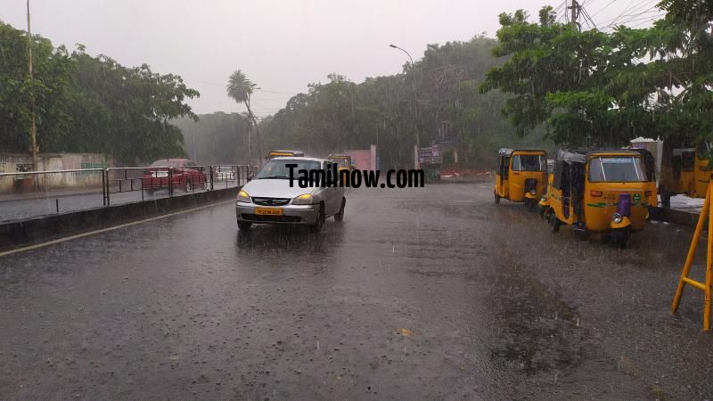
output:
[{"label": "yellow auto rickshaw cut off by the right edge of the picture", "polygon": [[661,205],[665,207],[670,206],[671,197],[678,194],[706,197],[710,181],[710,144],[701,142],[693,146],[689,143],[663,143],[659,194]]}]

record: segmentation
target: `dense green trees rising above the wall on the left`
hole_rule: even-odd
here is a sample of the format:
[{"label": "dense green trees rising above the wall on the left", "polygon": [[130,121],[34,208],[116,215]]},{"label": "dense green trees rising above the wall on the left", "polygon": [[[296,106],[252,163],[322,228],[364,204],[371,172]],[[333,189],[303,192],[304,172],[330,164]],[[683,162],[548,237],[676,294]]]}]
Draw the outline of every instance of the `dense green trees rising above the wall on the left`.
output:
[{"label": "dense green trees rising above the wall on the left", "polygon": [[69,53],[33,35],[30,79],[26,33],[0,22],[0,43],[0,151],[29,150],[34,99],[42,151],[103,152],[128,164],[184,155],[168,120],[196,119],[185,100],[199,93],[181,77],[93,57],[83,45]]}]

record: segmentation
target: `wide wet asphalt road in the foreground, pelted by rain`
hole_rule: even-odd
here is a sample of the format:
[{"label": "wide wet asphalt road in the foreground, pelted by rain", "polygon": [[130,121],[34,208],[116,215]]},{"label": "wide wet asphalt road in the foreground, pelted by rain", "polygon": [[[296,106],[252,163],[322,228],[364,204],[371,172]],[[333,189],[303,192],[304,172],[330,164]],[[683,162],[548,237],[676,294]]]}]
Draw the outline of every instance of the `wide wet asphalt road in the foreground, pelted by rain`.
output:
[{"label": "wide wet asphalt road in the foreground, pelted by rain", "polygon": [[223,203],[0,258],[0,398],[711,397],[689,238],[552,234],[485,183],[349,192],[318,235]]}]

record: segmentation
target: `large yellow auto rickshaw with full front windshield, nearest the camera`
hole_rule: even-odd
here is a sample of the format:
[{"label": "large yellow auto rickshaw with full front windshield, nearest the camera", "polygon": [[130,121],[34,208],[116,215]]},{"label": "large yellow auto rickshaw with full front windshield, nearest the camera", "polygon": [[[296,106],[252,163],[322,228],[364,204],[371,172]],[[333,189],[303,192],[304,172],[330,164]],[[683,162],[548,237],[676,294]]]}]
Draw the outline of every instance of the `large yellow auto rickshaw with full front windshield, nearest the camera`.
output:
[{"label": "large yellow auto rickshaw with full front windshield, nearest the camera", "polygon": [[572,225],[578,232],[612,233],[627,246],[656,205],[652,160],[645,149],[557,151],[552,184],[540,201],[543,217],[554,233]]}]

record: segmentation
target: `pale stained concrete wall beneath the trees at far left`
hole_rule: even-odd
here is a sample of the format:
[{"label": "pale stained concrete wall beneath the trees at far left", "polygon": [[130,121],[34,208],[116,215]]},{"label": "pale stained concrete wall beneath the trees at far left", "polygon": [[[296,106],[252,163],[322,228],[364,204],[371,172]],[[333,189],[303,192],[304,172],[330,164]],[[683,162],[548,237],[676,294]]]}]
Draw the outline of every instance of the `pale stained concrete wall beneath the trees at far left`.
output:
[{"label": "pale stained concrete wall beneath the trees at far left", "polygon": [[[74,170],[80,168],[114,167],[111,158],[95,153],[40,154],[37,169],[41,171]],[[32,169],[32,158],[24,154],[0,154],[0,173],[20,173]],[[0,176],[0,192],[21,192],[32,183],[28,176]],[[58,188],[101,187],[99,172],[56,173],[40,176],[39,190]],[[34,190],[34,188],[33,188]]]}]

